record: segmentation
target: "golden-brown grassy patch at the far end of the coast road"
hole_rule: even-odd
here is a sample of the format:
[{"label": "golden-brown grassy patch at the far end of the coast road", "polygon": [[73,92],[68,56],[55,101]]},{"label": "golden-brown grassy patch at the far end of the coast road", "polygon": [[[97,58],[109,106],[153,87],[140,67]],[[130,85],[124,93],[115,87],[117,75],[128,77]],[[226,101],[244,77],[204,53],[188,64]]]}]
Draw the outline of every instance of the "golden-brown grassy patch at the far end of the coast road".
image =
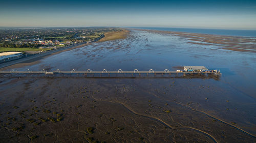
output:
[{"label": "golden-brown grassy patch at the far end of the coast road", "polygon": [[116,40],[116,39],[125,39],[127,37],[127,34],[129,31],[127,30],[122,30],[122,31],[117,31],[117,32],[108,32],[105,33],[105,37],[100,39],[100,42],[103,41],[109,41],[109,40]]}]

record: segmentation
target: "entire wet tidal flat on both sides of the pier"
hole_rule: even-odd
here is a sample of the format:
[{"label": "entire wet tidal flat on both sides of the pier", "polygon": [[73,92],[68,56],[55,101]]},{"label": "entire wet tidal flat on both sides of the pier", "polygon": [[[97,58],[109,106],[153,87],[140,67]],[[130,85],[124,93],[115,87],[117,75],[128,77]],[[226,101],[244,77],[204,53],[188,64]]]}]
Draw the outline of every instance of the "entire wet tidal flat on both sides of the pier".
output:
[{"label": "entire wet tidal flat on both sides of the pier", "polygon": [[189,39],[130,30],[125,39],[63,51],[23,67],[6,67],[160,71],[205,66],[220,69],[222,77],[1,75],[0,142],[255,142],[255,53]]}]

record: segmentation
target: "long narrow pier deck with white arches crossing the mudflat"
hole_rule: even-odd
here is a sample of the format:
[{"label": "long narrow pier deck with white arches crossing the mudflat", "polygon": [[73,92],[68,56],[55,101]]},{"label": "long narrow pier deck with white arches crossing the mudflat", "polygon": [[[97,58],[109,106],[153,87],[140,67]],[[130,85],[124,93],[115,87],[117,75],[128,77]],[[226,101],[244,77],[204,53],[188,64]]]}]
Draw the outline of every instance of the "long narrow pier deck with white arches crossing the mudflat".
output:
[{"label": "long narrow pier deck with white arches crossing the mudflat", "polygon": [[133,71],[123,71],[119,69],[118,71],[107,71],[106,69],[103,69],[102,71],[92,71],[88,69],[87,71],[76,71],[75,69],[71,71],[61,71],[61,70],[56,70],[56,71],[46,71],[46,70],[41,70],[41,71],[31,71],[31,70],[26,70],[26,71],[0,71],[0,74],[8,74],[9,76],[17,76],[17,75],[34,75],[34,74],[39,74],[39,75],[47,75],[47,76],[65,76],[65,75],[79,75],[82,77],[172,77],[172,76],[215,76],[215,77],[220,77],[221,73],[217,70],[211,70],[207,72],[201,72],[201,71],[169,71],[168,69],[165,69],[163,71],[154,71],[153,69],[150,69],[148,71],[139,71],[137,69]]}]

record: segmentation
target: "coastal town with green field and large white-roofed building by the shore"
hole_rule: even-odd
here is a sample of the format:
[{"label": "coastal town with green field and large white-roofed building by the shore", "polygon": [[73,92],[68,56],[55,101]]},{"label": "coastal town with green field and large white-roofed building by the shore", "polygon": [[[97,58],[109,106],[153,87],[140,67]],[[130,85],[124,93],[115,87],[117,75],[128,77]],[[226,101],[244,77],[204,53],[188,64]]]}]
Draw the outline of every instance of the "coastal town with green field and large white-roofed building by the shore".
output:
[{"label": "coastal town with green field and large white-roofed building by the shore", "polygon": [[96,42],[105,33],[119,31],[120,28],[110,27],[3,29],[0,30],[0,63]]}]

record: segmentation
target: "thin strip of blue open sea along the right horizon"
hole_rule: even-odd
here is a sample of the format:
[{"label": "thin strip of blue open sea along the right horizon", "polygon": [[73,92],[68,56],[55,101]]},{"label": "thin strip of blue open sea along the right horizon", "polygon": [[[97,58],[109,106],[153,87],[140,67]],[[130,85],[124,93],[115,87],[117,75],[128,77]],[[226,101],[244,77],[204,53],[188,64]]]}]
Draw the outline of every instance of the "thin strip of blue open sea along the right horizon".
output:
[{"label": "thin strip of blue open sea along the right horizon", "polygon": [[188,32],[188,33],[202,33],[202,34],[214,34],[214,35],[228,35],[228,36],[256,37],[256,30],[217,30],[217,29],[201,29],[201,28],[167,28],[167,27],[129,27],[129,28],[140,28],[145,30],[159,30],[159,31]]}]

